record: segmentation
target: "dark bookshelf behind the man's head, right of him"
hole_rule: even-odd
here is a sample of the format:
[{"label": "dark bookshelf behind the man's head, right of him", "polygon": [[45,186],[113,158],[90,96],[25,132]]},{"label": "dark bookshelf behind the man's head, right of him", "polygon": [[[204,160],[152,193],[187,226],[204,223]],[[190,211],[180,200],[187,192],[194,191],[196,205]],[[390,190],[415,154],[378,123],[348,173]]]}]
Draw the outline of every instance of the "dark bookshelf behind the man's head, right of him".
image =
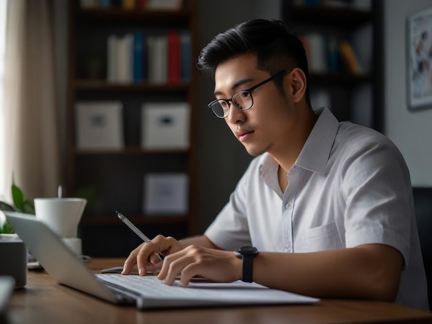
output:
[{"label": "dark bookshelf behind the man's head, right of him", "polygon": [[[289,28],[306,39],[306,52],[312,52],[308,61],[313,103],[328,105],[340,121],[382,131],[381,1],[282,1],[282,12]],[[313,35],[315,45],[308,45],[308,35]],[[339,49],[344,41],[353,49],[361,72],[353,72],[344,60]],[[313,54],[321,62],[314,65]]]}]

